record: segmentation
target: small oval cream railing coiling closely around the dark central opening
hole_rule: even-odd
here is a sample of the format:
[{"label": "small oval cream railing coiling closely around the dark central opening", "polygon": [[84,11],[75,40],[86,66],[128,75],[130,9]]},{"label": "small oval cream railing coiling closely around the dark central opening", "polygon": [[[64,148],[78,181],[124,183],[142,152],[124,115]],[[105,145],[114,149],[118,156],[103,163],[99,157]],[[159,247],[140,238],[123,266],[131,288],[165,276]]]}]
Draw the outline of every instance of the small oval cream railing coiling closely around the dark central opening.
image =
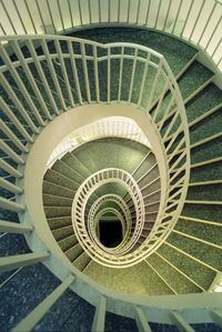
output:
[{"label": "small oval cream railing coiling closely around the dark central opening", "polygon": [[[90,197],[93,192],[102,187],[104,183],[121,183],[129,194],[132,198],[132,201],[135,207],[135,228],[133,229],[132,235],[130,237],[128,243],[124,244],[124,248],[119,249],[118,252],[101,249],[101,245],[98,244],[98,241],[94,241],[93,233],[89,231],[92,230],[94,222],[94,214],[100,208],[101,203],[103,203],[107,199],[109,201],[115,201],[120,205],[122,205],[122,211],[125,214],[125,222],[129,225],[129,231],[127,232],[127,237],[129,237],[129,232],[131,231],[131,215],[129,208],[125,207],[125,203],[118,195],[109,195],[99,198],[94,204],[92,205],[92,210],[90,211],[89,222],[85,224],[85,208]],[[142,193],[135,182],[135,180],[130,175],[130,173],[120,169],[104,169],[95,172],[91,177],[89,177],[78,189],[73,204],[72,204],[72,225],[74,229],[74,234],[81,243],[81,247],[84,251],[97,262],[102,263],[107,266],[114,268],[125,268],[130,266],[133,263],[138,262],[140,256],[139,252],[129,253],[129,251],[134,247],[137,241],[139,240],[144,224],[144,204],[142,199]],[[92,237],[91,237],[92,235]]]}]

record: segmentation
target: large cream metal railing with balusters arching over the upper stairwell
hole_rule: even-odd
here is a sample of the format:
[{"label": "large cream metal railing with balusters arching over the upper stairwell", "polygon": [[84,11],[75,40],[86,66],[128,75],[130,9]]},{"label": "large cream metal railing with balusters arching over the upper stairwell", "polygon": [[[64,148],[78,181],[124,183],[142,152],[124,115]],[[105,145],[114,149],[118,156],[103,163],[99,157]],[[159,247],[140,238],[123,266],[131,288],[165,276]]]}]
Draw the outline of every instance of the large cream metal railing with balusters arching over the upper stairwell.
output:
[{"label": "large cream metal railing with balusters arching over the upper stairwell", "polygon": [[[165,59],[153,50],[133,43],[103,46],[58,36],[1,38],[1,41],[6,40],[9,44],[0,44],[3,62],[0,68],[0,107],[10,124],[4,133],[7,137],[10,133],[20,152],[14,152],[4,140],[1,141],[1,150],[13,162],[24,164],[24,158],[20,155],[27,152],[23,140],[32,142],[33,134],[69,108],[88,103],[127,103],[135,104],[145,112],[162,145],[167,169],[163,175],[167,188],[162,188],[157,218],[157,229],[162,231],[158,232],[159,240],[155,241],[152,230],[149,237],[151,253],[180,215],[190,171],[184,105]],[[10,49],[14,58],[9,57]],[[10,103],[7,103],[8,97]],[[19,131],[22,141],[10,128]],[[17,172],[17,167],[10,162],[6,168],[9,173],[11,169]],[[1,182],[9,192],[22,192],[18,181],[14,185],[6,179]],[[143,192],[149,190],[148,187],[143,188]],[[18,212],[24,209],[4,197],[0,198],[0,205]],[[147,254],[147,249],[143,250]]]}]

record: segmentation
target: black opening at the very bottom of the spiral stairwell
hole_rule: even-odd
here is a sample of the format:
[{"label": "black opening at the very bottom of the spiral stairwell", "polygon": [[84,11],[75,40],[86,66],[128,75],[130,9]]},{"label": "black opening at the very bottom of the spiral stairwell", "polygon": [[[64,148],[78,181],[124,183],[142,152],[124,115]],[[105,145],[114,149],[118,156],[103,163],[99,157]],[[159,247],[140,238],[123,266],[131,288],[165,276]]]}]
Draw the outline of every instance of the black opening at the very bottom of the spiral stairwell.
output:
[{"label": "black opening at the very bottom of the spiral stairwell", "polygon": [[114,248],[122,242],[122,224],[119,220],[99,221],[100,242],[108,248]]}]

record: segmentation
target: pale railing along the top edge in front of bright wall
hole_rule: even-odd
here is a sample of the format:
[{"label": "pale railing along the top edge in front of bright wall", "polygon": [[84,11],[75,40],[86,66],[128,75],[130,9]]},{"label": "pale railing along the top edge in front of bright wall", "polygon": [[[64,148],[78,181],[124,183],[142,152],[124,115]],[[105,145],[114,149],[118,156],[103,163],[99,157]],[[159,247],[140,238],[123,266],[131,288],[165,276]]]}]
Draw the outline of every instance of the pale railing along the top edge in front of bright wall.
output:
[{"label": "pale railing along the top edge in front of bright wall", "polygon": [[157,29],[206,52],[222,70],[220,0],[1,0],[1,34],[65,33],[88,26]]}]

